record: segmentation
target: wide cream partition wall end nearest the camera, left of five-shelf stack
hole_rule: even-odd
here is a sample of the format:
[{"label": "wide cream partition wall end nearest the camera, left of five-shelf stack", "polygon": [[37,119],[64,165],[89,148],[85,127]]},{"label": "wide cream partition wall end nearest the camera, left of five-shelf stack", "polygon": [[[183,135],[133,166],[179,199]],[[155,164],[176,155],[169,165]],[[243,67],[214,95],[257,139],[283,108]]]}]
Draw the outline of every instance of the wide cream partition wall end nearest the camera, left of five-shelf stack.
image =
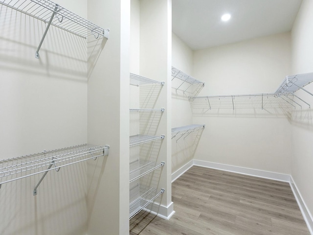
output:
[{"label": "wide cream partition wall end nearest the camera, left of five-shelf stack", "polygon": [[128,0],[89,0],[88,17],[110,28],[110,39],[89,38],[88,141],[109,144],[107,158],[88,165],[88,234],[129,233]]}]

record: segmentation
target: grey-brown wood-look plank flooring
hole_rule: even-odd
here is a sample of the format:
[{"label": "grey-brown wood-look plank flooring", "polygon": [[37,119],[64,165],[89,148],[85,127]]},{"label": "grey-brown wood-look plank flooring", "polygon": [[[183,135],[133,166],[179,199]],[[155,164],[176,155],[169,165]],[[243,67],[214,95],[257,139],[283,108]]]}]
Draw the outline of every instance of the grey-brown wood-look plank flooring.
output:
[{"label": "grey-brown wood-look plank flooring", "polygon": [[310,235],[285,182],[193,166],[172,184],[176,213],[141,211],[130,235]]}]

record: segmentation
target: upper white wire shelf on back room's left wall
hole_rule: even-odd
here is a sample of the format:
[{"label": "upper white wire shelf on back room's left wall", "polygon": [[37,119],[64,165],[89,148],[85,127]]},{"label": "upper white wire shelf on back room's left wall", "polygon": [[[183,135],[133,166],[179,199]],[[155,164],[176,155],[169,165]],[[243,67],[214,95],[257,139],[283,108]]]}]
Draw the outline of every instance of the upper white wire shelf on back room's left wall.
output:
[{"label": "upper white wire shelf on back room's left wall", "polygon": [[174,79],[180,80],[180,83],[175,86],[176,92],[180,89],[183,91],[183,94],[190,94],[187,96],[197,96],[204,87],[204,82],[201,82],[172,66],[172,82]]}]

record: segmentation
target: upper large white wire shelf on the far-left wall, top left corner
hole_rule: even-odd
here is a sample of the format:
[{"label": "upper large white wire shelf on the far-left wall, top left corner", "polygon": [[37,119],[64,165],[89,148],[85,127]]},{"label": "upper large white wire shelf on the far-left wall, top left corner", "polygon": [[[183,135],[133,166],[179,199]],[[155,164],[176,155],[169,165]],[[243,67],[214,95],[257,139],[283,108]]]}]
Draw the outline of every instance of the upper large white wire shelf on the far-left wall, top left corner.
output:
[{"label": "upper large white wire shelf on the far-left wall, top left corner", "polygon": [[49,21],[52,12],[55,12],[52,25],[83,38],[89,35],[108,38],[109,35],[108,29],[93,24],[50,0],[0,0],[0,3],[45,23]]}]

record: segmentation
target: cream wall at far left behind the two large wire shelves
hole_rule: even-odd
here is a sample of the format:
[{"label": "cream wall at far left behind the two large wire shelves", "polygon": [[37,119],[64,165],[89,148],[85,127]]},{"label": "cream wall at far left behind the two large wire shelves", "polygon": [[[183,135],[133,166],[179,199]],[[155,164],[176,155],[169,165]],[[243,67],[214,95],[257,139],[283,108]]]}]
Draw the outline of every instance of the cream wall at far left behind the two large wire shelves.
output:
[{"label": "cream wall at far left behind the two large wire shelves", "polygon": [[[59,0],[87,16],[87,0]],[[0,160],[87,142],[87,41],[0,5]],[[86,233],[87,166],[74,164],[0,189],[0,234]]]}]

